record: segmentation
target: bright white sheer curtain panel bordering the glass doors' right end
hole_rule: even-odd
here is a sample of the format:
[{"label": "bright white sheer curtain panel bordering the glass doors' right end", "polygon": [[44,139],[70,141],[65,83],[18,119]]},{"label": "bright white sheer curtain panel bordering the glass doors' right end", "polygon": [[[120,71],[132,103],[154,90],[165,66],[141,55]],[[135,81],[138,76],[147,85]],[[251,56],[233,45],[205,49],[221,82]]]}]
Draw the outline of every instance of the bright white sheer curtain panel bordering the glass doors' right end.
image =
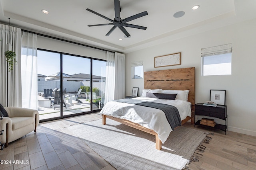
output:
[{"label": "bright white sheer curtain panel bordering the glass doors' right end", "polygon": [[106,104],[114,100],[115,95],[115,54],[107,51],[107,66],[106,66],[106,87],[105,87],[105,100]]}]

